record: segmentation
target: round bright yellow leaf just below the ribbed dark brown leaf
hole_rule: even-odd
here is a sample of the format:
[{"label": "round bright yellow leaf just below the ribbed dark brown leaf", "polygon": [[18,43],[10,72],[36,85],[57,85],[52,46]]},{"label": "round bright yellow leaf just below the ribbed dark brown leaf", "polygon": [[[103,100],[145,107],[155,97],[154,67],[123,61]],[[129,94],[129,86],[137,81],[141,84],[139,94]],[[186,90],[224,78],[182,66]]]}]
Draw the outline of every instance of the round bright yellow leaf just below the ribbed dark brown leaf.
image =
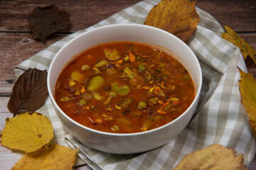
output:
[{"label": "round bright yellow leaf just below the ribbed dark brown leaf", "polygon": [[41,113],[21,113],[6,118],[1,145],[24,152],[34,152],[53,139],[53,126]]}]

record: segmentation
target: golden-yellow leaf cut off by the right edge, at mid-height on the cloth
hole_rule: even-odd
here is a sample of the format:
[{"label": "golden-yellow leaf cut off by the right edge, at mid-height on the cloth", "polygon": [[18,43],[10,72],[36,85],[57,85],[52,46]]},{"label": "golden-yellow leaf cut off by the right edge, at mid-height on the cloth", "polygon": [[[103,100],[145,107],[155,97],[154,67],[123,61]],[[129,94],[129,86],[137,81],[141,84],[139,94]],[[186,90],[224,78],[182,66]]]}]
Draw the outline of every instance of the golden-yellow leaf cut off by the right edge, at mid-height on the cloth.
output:
[{"label": "golden-yellow leaf cut off by the right edge, at mid-height on the cloth", "polygon": [[241,69],[239,69],[239,72],[241,77],[239,81],[241,101],[250,118],[249,123],[256,131],[256,80],[250,73],[246,74]]}]

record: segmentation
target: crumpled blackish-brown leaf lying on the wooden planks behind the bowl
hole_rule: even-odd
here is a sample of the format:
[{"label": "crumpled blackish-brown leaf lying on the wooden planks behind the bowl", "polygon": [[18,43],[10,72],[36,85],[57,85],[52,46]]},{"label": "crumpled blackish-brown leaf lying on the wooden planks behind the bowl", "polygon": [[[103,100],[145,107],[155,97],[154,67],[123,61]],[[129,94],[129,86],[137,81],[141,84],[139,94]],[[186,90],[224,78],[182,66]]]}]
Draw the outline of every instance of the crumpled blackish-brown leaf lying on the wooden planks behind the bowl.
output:
[{"label": "crumpled blackish-brown leaf lying on the wooden planks behind the bowl", "polygon": [[28,23],[33,38],[45,42],[48,35],[68,27],[68,13],[53,5],[38,7],[29,16]]}]

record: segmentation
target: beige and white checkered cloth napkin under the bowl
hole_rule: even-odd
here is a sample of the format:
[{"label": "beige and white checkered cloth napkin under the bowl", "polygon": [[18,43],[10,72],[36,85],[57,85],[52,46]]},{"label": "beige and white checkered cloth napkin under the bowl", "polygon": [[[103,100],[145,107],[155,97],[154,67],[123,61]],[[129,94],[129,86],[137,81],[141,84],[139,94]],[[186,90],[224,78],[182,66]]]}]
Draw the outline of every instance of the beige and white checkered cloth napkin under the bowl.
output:
[{"label": "beige and white checkered cloth napkin under the bowl", "polygon": [[[159,0],[144,0],[115,13],[95,26],[79,30],[55,42],[15,67],[16,76],[29,67],[48,69],[56,52],[69,40],[100,26],[114,23],[143,24],[146,16]],[[72,148],[79,147],[77,164],[92,169],[173,169],[186,154],[215,143],[244,154],[245,165],[255,157],[255,137],[252,135],[245,108],[240,102],[238,67],[246,71],[240,50],[221,38],[223,28],[205,11],[196,8],[201,22],[196,33],[186,41],[195,52],[203,69],[203,88],[191,123],[168,144],[142,154],[108,154],[91,149],[75,140],[63,129],[50,98],[38,110],[50,118],[55,142]]]}]

